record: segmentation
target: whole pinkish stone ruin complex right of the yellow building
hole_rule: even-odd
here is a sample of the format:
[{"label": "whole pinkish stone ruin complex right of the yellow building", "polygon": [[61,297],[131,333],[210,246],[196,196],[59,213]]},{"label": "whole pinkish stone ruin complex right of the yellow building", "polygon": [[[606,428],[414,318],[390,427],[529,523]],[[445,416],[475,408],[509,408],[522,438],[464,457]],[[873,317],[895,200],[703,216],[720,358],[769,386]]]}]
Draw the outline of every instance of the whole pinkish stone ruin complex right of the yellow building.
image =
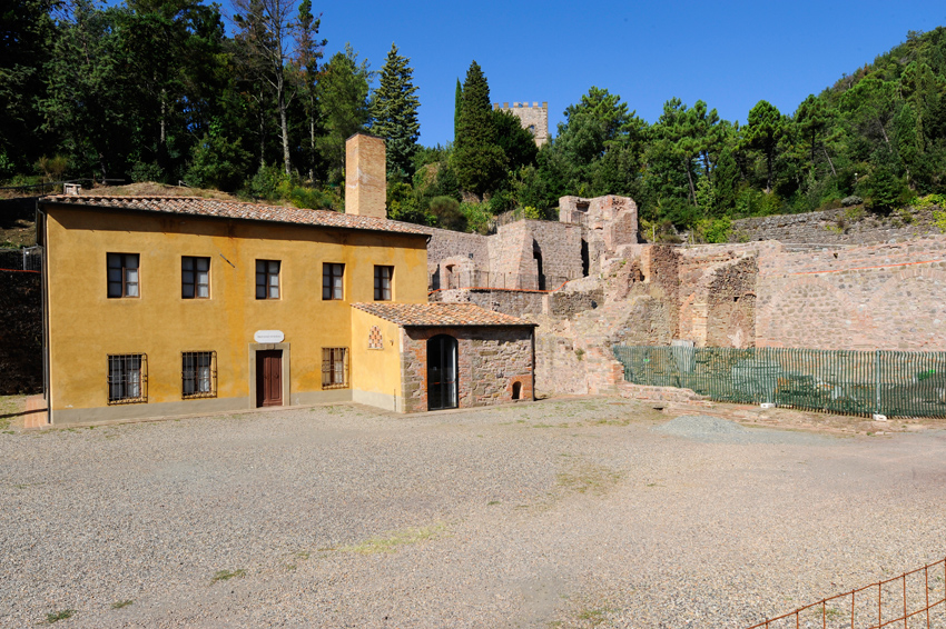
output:
[{"label": "whole pinkish stone ruin complex right of the yellow building", "polygon": [[[431,299],[474,302],[536,323],[538,392],[622,386],[615,343],[812,349],[946,349],[946,236],[864,230],[857,243],[640,242],[625,197],[560,200],[559,222],[492,236],[431,229]],[[824,228],[822,228],[824,229]],[[834,233],[834,232],[832,232]],[[834,240],[834,242],[831,242]]]}]

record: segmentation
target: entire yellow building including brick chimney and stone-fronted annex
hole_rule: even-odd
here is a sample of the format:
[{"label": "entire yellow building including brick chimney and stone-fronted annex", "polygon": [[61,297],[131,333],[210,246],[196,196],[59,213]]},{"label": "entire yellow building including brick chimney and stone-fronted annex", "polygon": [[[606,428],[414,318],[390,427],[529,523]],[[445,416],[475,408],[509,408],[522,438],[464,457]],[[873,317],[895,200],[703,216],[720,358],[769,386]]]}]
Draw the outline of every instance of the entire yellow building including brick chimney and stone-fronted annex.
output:
[{"label": "entire yellow building including brick chimney and stone-fronted annex", "polygon": [[385,218],[383,140],[347,149],[344,213],[41,199],[49,422],[531,399],[533,325],[428,303],[427,233]]}]

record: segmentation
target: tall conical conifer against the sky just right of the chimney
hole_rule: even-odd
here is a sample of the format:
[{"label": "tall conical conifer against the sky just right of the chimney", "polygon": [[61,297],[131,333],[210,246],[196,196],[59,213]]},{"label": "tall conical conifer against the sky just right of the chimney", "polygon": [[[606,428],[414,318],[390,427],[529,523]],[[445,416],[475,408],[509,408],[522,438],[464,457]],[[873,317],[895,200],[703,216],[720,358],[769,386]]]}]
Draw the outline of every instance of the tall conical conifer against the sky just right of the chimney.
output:
[{"label": "tall conical conifer against the sky just right of the chimney", "polygon": [[421,102],[414,96],[417,88],[411,80],[414,69],[408,66],[410,61],[397,54],[397,46],[391,44],[371,108],[372,131],[385,140],[387,172],[402,179],[413,174],[412,160],[417,152],[421,129],[417,121]]}]

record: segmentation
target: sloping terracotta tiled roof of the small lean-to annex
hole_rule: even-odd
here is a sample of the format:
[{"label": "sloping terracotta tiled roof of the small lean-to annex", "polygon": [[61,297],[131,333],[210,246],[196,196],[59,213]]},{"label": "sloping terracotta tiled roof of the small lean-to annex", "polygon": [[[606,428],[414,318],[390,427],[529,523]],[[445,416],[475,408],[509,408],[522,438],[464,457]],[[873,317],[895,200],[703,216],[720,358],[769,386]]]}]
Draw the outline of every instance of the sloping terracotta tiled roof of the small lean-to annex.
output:
[{"label": "sloping terracotta tiled roof of the small lean-to annex", "polygon": [[385,321],[406,328],[426,326],[518,326],[535,327],[524,319],[503,312],[494,312],[475,303],[353,303],[357,308]]}]

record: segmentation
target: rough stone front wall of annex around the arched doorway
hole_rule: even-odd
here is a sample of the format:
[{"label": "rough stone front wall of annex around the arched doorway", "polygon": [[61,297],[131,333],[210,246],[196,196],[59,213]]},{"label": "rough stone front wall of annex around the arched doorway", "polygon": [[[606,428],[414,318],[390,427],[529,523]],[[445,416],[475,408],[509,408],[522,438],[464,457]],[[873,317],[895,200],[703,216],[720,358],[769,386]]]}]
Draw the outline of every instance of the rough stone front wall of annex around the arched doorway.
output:
[{"label": "rough stone front wall of annex around the arched doorway", "polygon": [[460,408],[533,399],[531,328],[406,328],[401,332],[405,412],[427,410],[427,340],[450,335],[457,343]]}]

